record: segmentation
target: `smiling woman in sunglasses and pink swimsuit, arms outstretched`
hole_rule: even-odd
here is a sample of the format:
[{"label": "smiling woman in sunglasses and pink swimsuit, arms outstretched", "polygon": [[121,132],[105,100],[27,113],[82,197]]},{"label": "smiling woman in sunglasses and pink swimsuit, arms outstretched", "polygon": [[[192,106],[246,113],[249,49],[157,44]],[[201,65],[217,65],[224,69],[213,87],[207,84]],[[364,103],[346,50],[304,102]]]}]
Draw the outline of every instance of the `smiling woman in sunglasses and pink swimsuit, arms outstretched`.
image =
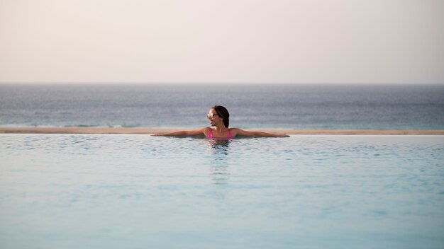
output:
[{"label": "smiling woman in sunglasses and pink swimsuit, arms outstretched", "polygon": [[228,110],[221,105],[214,105],[209,114],[206,115],[210,125],[215,127],[205,127],[189,131],[171,132],[167,134],[155,134],[154,136],[180,137],[180,136],[202,136],[209,139],[233,139],[236,136],[244,137],[289,137],[289,135],[271,134],[267,132],[248,132],[238,128],[228,128],[230,124],[230,114]]}]

